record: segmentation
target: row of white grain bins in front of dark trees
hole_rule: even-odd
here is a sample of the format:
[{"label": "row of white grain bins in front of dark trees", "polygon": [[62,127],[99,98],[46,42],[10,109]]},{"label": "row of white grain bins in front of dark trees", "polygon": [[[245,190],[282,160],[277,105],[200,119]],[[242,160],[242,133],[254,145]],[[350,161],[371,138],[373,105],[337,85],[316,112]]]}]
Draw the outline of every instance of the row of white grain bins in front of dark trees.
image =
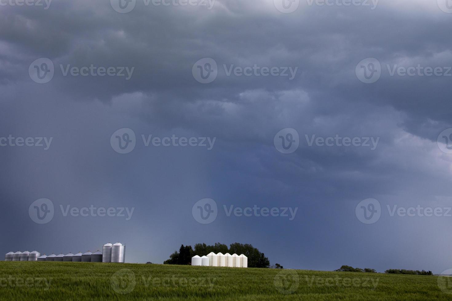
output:
[{"label": "row of white grain bins in front of dark trees", "polygon": [[211,267],[229,267],[229,268],[248,268],[248,257],[237,254],[215,254],[213,252],[207,256],[199,257],[198,255],[192,258],[192,265],[211,266]]}]

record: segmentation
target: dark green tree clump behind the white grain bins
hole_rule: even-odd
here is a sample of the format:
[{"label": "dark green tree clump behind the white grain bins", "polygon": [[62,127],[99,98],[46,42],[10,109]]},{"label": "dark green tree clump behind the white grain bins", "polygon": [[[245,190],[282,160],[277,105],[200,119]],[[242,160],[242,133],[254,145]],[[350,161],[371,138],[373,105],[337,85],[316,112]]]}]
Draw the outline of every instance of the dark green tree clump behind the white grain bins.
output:
[{"label": "dark green tree clump behind the white grain bins", "polygon": [[205,243],[199,243],[194,245],[194,249],[191,245],[181,245],[179,251],[175,250],[170,255],[170,259],[167,259],[163,264],[179,264],[190,265],[192,264],[192,257],[198,255],[199,257],[205,256],[209,253],[222,253],[222,254],[243,254],[248,257],[249,268],[269,268],[270,261],[265,257],[264,253],[260,252],[257,248],[254,248],[250,244],[240,244],[235,242],[229,245],[229,248],[225,244],[219,242],[215,245],[207,245]]}]

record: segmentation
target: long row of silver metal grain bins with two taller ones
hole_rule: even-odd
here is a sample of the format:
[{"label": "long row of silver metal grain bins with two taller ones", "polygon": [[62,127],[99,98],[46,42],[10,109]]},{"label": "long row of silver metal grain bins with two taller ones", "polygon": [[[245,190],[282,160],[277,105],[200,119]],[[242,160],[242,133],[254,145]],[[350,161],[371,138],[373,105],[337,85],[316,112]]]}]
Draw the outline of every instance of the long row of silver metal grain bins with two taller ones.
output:
[{"label": "long row of silver metal grain bins with two taller ones", "polygon": [[5,254],[5,261],[76,261],[76,262],[113,262],[124,263],[126,257],[126,246],[120,242],[112,245],[111,243],[105,244],[102,248],[103,252],[97,251],[91,253],[66,254],[59,255],[42,255],[37,251],[33,252],[9,252]]}]

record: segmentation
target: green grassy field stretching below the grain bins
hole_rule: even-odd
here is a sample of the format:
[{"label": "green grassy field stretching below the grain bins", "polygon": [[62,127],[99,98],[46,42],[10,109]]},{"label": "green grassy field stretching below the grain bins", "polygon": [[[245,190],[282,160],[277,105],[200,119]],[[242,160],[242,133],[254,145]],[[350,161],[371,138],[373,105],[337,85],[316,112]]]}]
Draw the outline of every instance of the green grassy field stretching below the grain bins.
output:
[{"label": "green grassy field stretching below the grain bins", "polygon": [[447,289],[446,280],[441,277],[438,282],[436,276],[160,264],[0,262],[0,299],[451,300],[452,295],[441,290]]}]

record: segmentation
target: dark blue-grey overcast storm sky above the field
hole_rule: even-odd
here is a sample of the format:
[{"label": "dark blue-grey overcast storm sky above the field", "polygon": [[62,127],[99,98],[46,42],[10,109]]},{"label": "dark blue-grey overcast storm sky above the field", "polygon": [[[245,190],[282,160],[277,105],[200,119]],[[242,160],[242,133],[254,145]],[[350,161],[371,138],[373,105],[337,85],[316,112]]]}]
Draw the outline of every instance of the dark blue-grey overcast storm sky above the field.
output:
[{"label": "dark blue-grey overcast storm sky above the field", "polygon": [[446,0],[0,2],[3,254],[452,268]]}]

